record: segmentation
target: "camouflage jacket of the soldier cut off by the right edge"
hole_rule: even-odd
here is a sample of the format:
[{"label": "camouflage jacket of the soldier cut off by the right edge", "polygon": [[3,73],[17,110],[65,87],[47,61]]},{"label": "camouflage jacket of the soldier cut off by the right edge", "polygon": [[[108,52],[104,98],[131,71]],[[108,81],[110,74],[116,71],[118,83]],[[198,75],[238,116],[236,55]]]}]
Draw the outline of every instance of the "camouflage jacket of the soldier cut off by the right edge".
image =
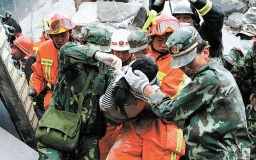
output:
[{"label": "camouflage jacket of the soldier cut off by the right edge", "polygon": [[252,92],[256,93],[256,47],[251,47],[246,55],[235,64],[231,73],[240,87],[245,80],[251,79]]}]

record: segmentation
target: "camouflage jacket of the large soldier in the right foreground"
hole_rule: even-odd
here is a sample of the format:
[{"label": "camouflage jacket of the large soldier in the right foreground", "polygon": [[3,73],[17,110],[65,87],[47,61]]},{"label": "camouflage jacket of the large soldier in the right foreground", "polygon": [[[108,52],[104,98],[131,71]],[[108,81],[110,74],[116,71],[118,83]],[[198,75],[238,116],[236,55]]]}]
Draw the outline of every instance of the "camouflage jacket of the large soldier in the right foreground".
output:
[{"label": "camouflage jacket of the large soldier in the right foreground", "polygon": [[251,143],[235,79],[215,59],[197,72],[174,100],[154,94],[153,112],[183,128],[187,159],[249,159]]}]

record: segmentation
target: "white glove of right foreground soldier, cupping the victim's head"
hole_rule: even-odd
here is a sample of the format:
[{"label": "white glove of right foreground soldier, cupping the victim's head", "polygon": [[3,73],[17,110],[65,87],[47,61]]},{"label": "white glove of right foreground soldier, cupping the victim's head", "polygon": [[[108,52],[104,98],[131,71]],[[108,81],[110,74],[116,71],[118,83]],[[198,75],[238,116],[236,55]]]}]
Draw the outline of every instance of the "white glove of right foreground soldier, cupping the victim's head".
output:
[{"label": "white glove of right foreground soldier, cupping the victim's head", "polygon": [[150,85],[148,77],[143,72],[135,70],[133,73],[131,67],[127,70],[125,79],[135,92],[139,92],[141,94],[143,94],[143,90],[146,85]]}]

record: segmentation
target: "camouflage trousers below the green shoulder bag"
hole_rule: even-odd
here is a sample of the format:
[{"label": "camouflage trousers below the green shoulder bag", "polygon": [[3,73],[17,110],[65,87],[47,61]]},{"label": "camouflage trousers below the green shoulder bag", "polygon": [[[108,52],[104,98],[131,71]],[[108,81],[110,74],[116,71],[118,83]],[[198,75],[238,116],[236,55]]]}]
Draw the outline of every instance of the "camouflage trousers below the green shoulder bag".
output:
[{"label": "camouflage trousers below the green shoulder bag", "polygon": [[78,147],[75,151],[66,152],[52,149],[37,143],[38,160],[99,160],[98,136],[79,135]]}]

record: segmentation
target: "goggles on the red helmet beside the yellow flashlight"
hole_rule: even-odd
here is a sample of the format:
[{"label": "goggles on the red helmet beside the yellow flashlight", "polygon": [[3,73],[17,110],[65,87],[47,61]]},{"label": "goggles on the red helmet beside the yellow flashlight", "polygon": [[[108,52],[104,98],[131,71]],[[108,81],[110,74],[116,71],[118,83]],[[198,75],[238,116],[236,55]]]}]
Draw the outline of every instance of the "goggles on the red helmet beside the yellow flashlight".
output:
[{"label": "goggles on the red helmet beside the yellow flashlight", "polygon": [[160,21],[156,23],[153,32],[158,36],[162,36],[166,32],[174,32],[178,28],[180,28],[180,25],[177,21]]}]

